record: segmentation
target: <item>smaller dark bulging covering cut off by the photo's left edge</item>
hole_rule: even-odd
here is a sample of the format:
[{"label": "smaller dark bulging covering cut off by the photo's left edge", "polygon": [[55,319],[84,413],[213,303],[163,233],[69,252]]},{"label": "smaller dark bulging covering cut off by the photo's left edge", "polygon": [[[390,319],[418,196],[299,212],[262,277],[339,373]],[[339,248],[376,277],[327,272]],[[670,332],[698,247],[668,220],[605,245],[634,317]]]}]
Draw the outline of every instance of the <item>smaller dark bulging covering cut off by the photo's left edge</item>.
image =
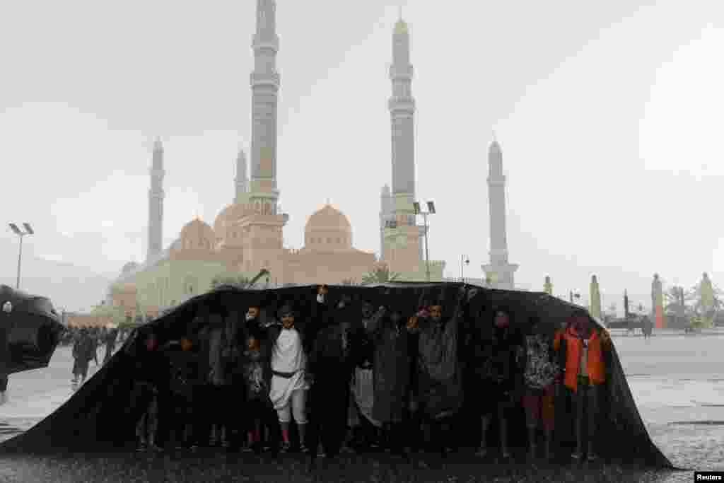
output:
[{"label": "smaller dark bulging covering cut off by the photo's left edge", "polygon": [[47,367],[63,330],[48,298],[0,285],[0,374]]}]

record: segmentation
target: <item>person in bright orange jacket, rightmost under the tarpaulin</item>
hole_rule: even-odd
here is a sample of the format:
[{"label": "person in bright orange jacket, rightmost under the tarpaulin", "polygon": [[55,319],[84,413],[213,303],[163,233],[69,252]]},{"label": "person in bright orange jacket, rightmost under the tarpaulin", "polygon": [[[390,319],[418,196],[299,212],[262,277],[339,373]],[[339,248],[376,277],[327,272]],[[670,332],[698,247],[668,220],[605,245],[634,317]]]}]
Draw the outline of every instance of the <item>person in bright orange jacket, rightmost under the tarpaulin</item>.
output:
[{"label": "person in bright orange jacket, rightmost under the tarpaulin", "polygon": [[[610,336],[606,329],[597,327],[588,314],[571,316],[565,330],[555,336],[553,348],[565,354],[563,383],[573,392],[576,400],[576,452],[575,460],[583,458],[584,440],[588,440],[587,457],[597,459],[594,451],[596,415],[599,392],[606,382],[605,352],[610,349]],[[587,434],[584,434],[584,408]]]}]

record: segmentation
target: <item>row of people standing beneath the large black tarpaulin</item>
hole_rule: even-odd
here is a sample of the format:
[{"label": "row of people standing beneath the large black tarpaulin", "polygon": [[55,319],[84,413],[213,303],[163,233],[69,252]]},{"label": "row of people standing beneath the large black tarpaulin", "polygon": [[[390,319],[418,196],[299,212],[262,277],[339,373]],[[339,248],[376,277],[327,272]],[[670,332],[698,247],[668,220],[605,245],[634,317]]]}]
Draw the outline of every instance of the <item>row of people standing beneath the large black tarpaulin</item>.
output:
[{"label": "row of people standing beneath the large black tarpaulin", "polygon": [[[497,419],[495,445],[510,458],[507,418],[522,404],[531,455],[542,427],[550,457],[556,393],[568,390],[576,401],[573,458],[597,458],[605,329],[581,310],[553,335],[536,316],[512,324],[510,308],[471,311],[466,297],[415,306],[391,297],[376,307],[346,295],[332,303],[321,285],[316,300],[283,303],[276,314],[261,299],[245,316],[205,303],[185,335],[140,332],[141,350],[132,353],[138,449],[444,455],[459,447],[453,428],[466,400],[481,424],[477,455],[487,454]],[[295,309],[300,302],[311,305],[307,316]]]}]

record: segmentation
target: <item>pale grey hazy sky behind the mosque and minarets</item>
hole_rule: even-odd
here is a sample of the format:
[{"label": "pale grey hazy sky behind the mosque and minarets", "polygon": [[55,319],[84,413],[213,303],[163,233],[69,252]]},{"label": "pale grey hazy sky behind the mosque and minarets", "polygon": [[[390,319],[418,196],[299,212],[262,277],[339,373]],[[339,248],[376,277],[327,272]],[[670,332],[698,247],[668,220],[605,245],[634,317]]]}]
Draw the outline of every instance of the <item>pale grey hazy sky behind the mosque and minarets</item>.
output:
[{"label": "pale grey hazy sky behind the mosque and minarets", "polygon": [[[277,1],[279,189],[299,248],[327,198],[379,251],[390,182],[392,0]],[[166,148],[164,245],[234,193],[250,139],[254,0],[1,2],[0,202],[27,250],[117,273],[145,256],[150,140]],[[721,1],[411,0],[417,191],[430,257],[487,263],[487,148],[508,175],[516,282],[607,300],[654,272],[724,280]],[[1,237],[12,238],[9,230]],[[2,267],[13,272],[14,266]],[[722,282],[724,285],[724,282]]]}]

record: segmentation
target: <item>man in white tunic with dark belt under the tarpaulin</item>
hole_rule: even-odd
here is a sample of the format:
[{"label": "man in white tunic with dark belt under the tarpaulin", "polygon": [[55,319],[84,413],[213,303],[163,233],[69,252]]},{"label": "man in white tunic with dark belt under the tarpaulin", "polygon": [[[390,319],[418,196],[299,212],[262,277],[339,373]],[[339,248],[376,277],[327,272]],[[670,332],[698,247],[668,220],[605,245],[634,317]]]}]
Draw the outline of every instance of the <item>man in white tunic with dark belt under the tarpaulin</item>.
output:
[{"label": "man in white tunic with dark belt under the tarpaulin", "polygon": [[[286,304],[279,309],[281,326],[269,327],[269,345],[271,347],[271,383],[269,398],[279,416],[282,427],[282,452],[290,450],[290,422],[292,415],[297,424],[300,449],[306,447],[306,399],[309,383],[307,381],[307,355],[304,351],[304,335],[296,324],[297,314],[292,306]],[[300,324],[302,325],[302,324]]]}]

